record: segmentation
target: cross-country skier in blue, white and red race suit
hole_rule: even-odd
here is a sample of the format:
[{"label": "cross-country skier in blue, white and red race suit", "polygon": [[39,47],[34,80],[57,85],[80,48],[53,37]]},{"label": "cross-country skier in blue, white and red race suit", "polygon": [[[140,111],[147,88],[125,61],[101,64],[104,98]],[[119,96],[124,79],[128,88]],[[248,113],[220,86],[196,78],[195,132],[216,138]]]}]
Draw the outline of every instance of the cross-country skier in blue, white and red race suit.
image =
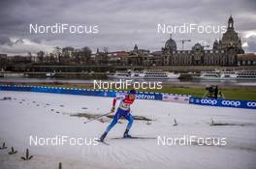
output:
[{"label": "cross-country skier in blue, white and red race suit", "polygon": [[121,117],[124,117],[128,121],[128,125],[125,129],[123,137],[124,138],[131,137],[131,135],[128,134],[129,129],[133,125],[133,116],[130,113],[130,111],[131,111],[130,105],[133,104],[135,98],[136,98],[136,91],[131,90],[128,93],[128,95],[112,99],[112,112],[114,112],[116,100],[120,99],[120,103],[119,103],[119,106],[118,106],[118,109],[117,109],[115,115],[112,118],[112,123],[109,125],[109,127],[107,127],[106,131],[102,134],[102,136],[100,138],[101,141],[104,141],[104,139],[107,136],[107,134],[109,133],[109,131],[112,129],[112,127],[114,127],[114,125],[118,122],[118,120]]}]

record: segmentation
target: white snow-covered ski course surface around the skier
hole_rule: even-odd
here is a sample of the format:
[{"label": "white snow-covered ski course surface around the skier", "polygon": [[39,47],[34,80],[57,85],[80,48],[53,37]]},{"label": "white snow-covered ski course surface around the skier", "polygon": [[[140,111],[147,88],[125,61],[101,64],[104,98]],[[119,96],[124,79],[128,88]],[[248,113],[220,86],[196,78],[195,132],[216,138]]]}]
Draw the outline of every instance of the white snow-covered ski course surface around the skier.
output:
[{"label": "white snow-covered ski course surface around the skier", "polygon": [[[220,108],[156,100],[136,100],[133,115],[152,118],[151,125],[134,121],[132,135],[182,137],[226,137],[225,146],[163,146],[157,139],[112,139],[122,135],[126,122],[117,124],[107,137],[110,146],[34,146],[29,136],[99,137],[108,123],[93,121],[83,124],[85,118],[71,117],[76,113],[107,113],[111,98],[83,97],[60,94],[0,91],[0,150],[1,169],[58,168],[255,168],[256,166],[256,111],[250,109]],[[86,109],[84,108],[86,107]],[[59,113],[56,113],[59,112]],[[174,127],[174,119],[178,126]],[[214,123],[242,126],[210,127]],[[18,153],[8,155],[14,147]],[[31,160],[20,159],[25,149],[34,155]]]}]

